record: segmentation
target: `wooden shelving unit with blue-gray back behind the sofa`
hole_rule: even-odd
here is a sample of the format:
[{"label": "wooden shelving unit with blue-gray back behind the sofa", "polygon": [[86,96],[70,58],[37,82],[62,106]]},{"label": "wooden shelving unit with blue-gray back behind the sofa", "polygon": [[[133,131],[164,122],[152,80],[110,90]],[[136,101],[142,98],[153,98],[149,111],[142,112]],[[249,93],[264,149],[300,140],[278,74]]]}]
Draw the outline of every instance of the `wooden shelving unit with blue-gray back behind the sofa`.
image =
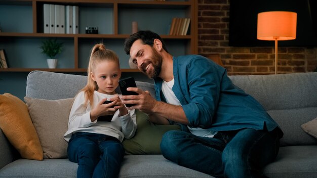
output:
[{"label": "wooden shelving unit with blue-gray back behind the sofa", "polygon": [[[44,4],[58,4],[58,5],[72,5],[78,6],[80,9],[80,20],[81,20],[81,9],[86,15],[93,14],[94,10],[103,13],[103,11],[109,11],[112,13],[111,17],[98,17],[102,18],[105,21],[111,21],[112,27],[105,27],[107,30],[100,31],[100,34],[85,34],[83,30],[80,29],[79,34],[55,34],[55,33],[44,33],[43,31],[43,5]],[[27,12],[31,13],[31,30],[24,32],[21,27],[18,25],[16,29],[6,31],[6,21],[10,21],[10,15],[7,17],[1,17],[0,12],[0,22],[3,27],[3,32],[0,32],[0,49],[5,49],[7,53],[7,61],[9,63],[8,69],[0,69],[0,72],[29,72],[32,70],[44,70],[44,71],[53,71],[53,72],[86,72],[86,59],[89,55],[89,47],[91,48],[92,43],[95,41],[105,41],[106,45],[109,47],[114,47],[117,49],[122,48],[122,51],[117,50],[120,53],[120,59],[123,60],[121,63],[124,63],[125,67],[122,67],[123,72],[138,72],[137,69],[130,69],[125,64],[128,58],[123,55],[123,42],[130,35],[131,22],[133,19],[137,19],[139,25],[139,30],[152,30],[156,33],[159,33],[166,43],[172,43],[172,51],[179,52],[179,55],[185,54],[197,54],[197,2],[195,0],[188,1],[124,1],[124,0],[0,0],[0,8],[9,8],[11,10],[16,10],[22,7],[26,9]],[[1,9],[0,9],[1,11]],[[17,10],[18,11],[18,10]],[[148,13],[150,12],[150,13]],[[127,17],[127,14],[129,17]],[[144,17],[144,14],[148,14],[148,18],[157,17],[157,19],[152,19],[152,21]],[[167,15],[166,15],[167,14]],[[176,15],[181,17],[190,18],[190,29],[187,35],[168,35],[168,24],[171,23],[171,20]],[[144,19],[143,19],[143,17]],[[95,19],[92,15],[88,17],[90,19]],[[23,18],[20,19],[23,22]],[[100,19],[98,19],[100,20]],[[151,19],[150,19],[151,20]],[[5,23],[3,23],[5,22]],[[19,22],[16,22],[19,23]],[[157,25],[159,23],[159,25]],[[160,25],[161,23],[161,25]],[[89,25],[86,21],[83,20],[80,25],[86,26]],[[103,24],[99,24],[102,26]],[[155,26],[156,25],[156,26]],[[163,26],[164,29],[159,29]],[[102,29],[102,28],[101,28]],[[22,32],[21,32],[22,31]],[[58,40],[65,40],[67,45],[68,56],[65,56],[64,62],[67,63],[65,66],[56,69],[49,69],[43,65],[43,63],[36,62],[36,60],[41,58],[39,54],[36,53],[38,50],[39,43],[41,40],[46,38],[57,38]],[[26,46],[30,49],[34,49],[34,53],[26,53],[29,49],[23,49],[21,47],[21,42],[25,42]],[[122,43],[122,47],[120,46]],[[174,46],[176,47],[174,47]],[[19,48],[16,50],[15,48]],[[110,48],[111,49],[111,48]],[[176,50],[175,50],[176,49]],[[178,50],[180,49],[180,50]],[[21,58],[18,53],[23,53],[28,56],[25,56],[24,59]],[[114,50],[115,51],[115,50]],[[34,56],[33,56],[34,54]],[[87,55],[86,55],[87,54]],[[173,54],[173,52],[171,52]],[[176,54],[175,56],[177,56]],[[69,57],[70,56],[70,57]],[[63,56],[62,56],[63,57]],[[34,59],[33,59],[34,58]],[[67,59],[67,60],[66,60]],[[19,63],[19,60],[23,61],[23,64]],[[73,62],[69,62],[72,60]],[[63,61],[62,61],[63,62]],[[37,64],[38,63],[38,64]],[[24,65],[24,66],[23,66]],[[30,67],[31,65],[31,67]],[[38,66],[37,66],[38,65]]]}]

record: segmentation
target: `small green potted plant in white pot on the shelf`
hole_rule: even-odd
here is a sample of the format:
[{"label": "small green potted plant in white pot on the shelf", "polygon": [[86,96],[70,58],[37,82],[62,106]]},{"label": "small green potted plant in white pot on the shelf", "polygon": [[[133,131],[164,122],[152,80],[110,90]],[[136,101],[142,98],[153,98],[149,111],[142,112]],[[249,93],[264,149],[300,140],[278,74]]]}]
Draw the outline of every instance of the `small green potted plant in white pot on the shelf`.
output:
[{"label": "small green potted plant in white pot on the shelf", "polygon": [[49,65],[49,68],[56,68],[57,65],[57,59],[55,59],[55,56],[57,54],[60,54],[63,50],[63,43],[57,42],[56,39],[47,39],[42,41],[41,47],[42,53],[49,57],[47,59],[47,63]]}]

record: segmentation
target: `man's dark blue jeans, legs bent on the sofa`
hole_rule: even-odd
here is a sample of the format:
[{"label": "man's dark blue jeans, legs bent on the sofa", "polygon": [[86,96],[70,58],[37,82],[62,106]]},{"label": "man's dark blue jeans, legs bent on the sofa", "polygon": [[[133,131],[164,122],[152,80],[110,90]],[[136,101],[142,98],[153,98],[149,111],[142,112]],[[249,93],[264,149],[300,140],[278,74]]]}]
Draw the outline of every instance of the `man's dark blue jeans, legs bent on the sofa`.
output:
[{"label": "man's dark blue jeans, legs bent on the sofa", "polygon": [[279,151],[278,128],[219,131],[214,138],[172,130],[161,142],[162,154],[177,164],[215,177],[265,177],[264,165]]}]

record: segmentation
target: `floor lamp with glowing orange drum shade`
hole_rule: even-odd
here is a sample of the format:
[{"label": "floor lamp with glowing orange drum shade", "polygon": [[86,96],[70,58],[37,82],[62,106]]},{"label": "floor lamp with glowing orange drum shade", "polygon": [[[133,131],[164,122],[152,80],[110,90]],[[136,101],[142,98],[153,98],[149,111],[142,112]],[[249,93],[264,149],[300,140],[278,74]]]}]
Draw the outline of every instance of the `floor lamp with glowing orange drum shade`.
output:
[{"label": "floor lamp with glowing orange drum shade", "polygon": [[287,11],[270,11],[258,14],[257,38],[275,40],[275,74],[278,73],[278,40],[296,38],[297,14]]}]

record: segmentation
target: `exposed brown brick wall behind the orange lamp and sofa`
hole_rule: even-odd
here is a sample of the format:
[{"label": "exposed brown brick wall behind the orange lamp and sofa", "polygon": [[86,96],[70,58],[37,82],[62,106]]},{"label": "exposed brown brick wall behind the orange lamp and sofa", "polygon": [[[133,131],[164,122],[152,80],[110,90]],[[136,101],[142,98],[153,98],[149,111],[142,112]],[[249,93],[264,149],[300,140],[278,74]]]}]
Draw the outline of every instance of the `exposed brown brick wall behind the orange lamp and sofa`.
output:
[{"label": "exposed brown brick wall behind the orange lamp and sofa", "polygon": [[[273,74],[272,47],[229,47],[229,0],[198,0],[198,51],[219,55],[229,75]],[[311,72],[317,67],[317,48],[279,48],[279,73]]]}]

